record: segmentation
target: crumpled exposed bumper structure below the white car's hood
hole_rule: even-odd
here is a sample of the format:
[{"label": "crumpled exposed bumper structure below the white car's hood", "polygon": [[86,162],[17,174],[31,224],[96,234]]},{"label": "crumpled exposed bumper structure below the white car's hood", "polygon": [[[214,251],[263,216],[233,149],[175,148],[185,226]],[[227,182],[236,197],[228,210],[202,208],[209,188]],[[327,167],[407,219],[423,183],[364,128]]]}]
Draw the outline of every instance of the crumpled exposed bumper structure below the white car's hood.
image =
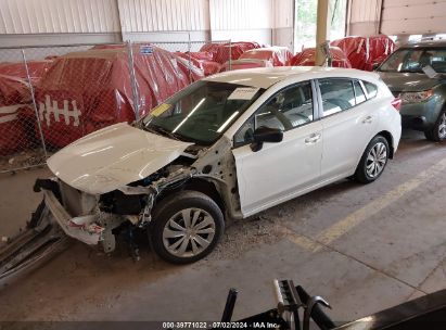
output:
[{"label": "crumpled exposed bumper structure below the white car's hood", "polygon": [[[164,175],[155,173],[144,180],[98,195],[79,191],[59,179],[38,180],[35,189],[43,191],[44,204],[68,237],[89,245],[99,244],[110,253],[115,250],[116,236],[124,231],[133,257],[138,257],[131,231],[146,227],[161,192],[192,177],[192,169],[176,167],[167,166],[160,170]],[[152,181],[153,178],[156,180]]]}]

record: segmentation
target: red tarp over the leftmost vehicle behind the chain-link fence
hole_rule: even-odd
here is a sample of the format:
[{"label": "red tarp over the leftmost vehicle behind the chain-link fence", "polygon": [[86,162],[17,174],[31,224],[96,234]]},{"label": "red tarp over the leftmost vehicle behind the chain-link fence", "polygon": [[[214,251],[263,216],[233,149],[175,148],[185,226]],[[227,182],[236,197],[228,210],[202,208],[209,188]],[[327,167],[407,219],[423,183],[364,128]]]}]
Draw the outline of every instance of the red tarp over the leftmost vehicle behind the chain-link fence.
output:
[{"label": "red tarp over the leftmost vehicle behind the chain-link fence", "polygon": [[[28,72],[35,86],[48,71],[51,61],[29,61]],[[28,134],[33,135],[36,116],[33,113],[31,93],[24,63],[0,63],[0,155],[23,150],[29,145]]]}]

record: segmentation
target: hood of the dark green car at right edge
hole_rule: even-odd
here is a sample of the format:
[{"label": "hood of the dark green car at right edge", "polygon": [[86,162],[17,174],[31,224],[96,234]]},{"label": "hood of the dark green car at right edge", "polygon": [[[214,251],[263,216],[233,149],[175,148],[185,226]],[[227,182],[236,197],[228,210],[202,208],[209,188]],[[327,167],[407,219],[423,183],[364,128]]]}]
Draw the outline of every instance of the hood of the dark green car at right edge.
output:
[{"label": "hood of the dark green car at right edge", "polygon": [[425,74],[377,72],[392,91],[423,91],[439,84],[442,78],[429,78]]}]

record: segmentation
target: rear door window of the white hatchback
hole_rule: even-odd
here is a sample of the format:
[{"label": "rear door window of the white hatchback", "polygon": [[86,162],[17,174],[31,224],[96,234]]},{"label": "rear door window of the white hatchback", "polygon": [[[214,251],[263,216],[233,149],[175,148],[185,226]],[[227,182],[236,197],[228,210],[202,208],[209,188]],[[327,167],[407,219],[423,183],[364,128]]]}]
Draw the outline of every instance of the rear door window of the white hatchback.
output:
[{"label": "rear door window of the white hatchback", "polygon": [[320,79],[323,116],[351,109],[356,105],[355,92],[351,79]]}]

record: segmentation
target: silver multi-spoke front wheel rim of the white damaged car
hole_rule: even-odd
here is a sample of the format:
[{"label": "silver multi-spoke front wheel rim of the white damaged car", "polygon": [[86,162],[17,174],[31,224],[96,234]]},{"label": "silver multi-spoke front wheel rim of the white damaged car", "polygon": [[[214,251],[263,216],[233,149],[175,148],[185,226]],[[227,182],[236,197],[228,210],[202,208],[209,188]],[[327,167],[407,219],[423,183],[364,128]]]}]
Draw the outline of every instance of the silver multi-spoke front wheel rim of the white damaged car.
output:
[{"label": "silver multi-spoke front wheel rim of the white damaged car", "polygon": [[213,242],[215,227],[215,219],[206,211],[184,208],[167,220],[163,244],[175,256],[195,256]]}]

